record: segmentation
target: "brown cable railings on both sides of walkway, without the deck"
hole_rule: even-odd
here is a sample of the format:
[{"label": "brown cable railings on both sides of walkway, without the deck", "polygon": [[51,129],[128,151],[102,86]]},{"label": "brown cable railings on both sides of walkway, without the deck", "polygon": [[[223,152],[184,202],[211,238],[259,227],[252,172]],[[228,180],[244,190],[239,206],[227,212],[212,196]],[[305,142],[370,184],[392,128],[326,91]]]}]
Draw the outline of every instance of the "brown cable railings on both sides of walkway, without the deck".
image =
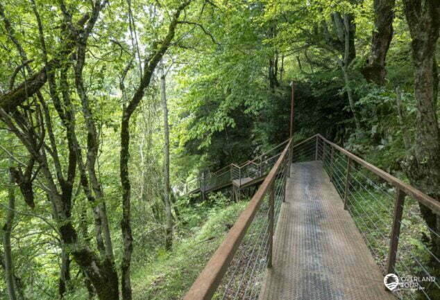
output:
[{"label": "brown cable railings on both sides of walkway, without the deck", "polygon": [[[383,274],[438,276],[439,253],[428,240],[440,239],[439,231],[424,222],[419,204],[439,213],[439,203],[317,134],[294,146],[289,143],[280,154],[262,155],[259,161],[230,168],[230,179],[240,183],[244,177],[270,172],[185,300],[258,299],[264,268],[271,265],[273,230],[285,199],[290,162],[312,160],[323,162]],[[419,286],[423,289],[400,289],[394,294],[398,299],[439,299],[436,281]]]}]

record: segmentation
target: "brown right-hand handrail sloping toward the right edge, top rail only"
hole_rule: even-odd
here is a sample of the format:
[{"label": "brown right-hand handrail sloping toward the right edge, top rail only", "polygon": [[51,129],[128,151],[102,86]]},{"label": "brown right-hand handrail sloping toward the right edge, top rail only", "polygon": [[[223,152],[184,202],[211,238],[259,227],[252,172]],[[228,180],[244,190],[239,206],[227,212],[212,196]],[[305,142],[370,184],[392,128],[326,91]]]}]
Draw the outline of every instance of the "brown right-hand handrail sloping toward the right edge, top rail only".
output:
[{"label": "brown right-hand handrail sloping toward the right edge, top rail only", "polygon": [[405,184],[405,182],[403,182],[402,180],[394,177],[393,175],[385,172],[384,170],[382,170],[376,166],[373,166],[369,162],[364,161],[364,159],[357,157],[356,155],[345,150],[344,148],[340,147],[339,145],[332,143],[328,139],[325,139],[325,137],[323,137],[321,134],[317,134],[317,136],[319,136],[319,139],[322,139],[323,141],[325,141],[325,143],[328,143],[329,145],[332,145],[332,147],[334,147],[335,149],[339,150],[339,152],[343,153],[344,155],[346,155],[350,159],[353,159],[353,161],[356,161],[357,164],[364,166],[368,170],[371,170],[371,172],[373,172],[375,175],[378,175],[379,177],[386,180],[390,184],[393,184],[394,186],[396,186],[396,188],[400,188],[407,195],[413,197],[415,200],[417,200],[418,202],[421,202],[425,206],[428,206],[430,209],[432,209],[432,211],[434,211],[434,213],[437,213],[438,215],[440,215],[440,202],[438,202],[434,198],[426,195],[422,191],[419,191],[417,188],[414,188],[413,186],[410,186],[409,184]]}]

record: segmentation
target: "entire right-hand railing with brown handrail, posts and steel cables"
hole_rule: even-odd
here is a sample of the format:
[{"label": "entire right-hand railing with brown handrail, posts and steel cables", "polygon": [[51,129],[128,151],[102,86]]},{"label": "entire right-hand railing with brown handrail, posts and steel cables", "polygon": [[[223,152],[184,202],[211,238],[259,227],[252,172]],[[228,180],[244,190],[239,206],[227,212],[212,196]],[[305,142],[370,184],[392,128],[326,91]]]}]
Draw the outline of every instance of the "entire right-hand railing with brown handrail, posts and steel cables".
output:
[{"label": "entire right-hand railing with brown handrail, posts and steel cables", "polygon": [[323,161],[382,273],[417,279],[409,281],[414,289],[395,290],[396,297],[440,299],[439,283],[432,281],[440,275],[439,248],[433,242],[440,238],[439,229],[428,226],[421,213],[423,205],[440,214],[439,202],[322,136],[316,145],[316,157]]}]

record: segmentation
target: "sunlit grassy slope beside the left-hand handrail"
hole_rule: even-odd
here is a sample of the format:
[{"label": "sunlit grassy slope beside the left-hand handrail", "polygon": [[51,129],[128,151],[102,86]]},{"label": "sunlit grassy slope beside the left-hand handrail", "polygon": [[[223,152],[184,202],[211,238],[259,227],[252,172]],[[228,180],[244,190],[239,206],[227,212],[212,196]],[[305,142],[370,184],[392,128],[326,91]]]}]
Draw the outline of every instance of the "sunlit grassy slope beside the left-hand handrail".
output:
[{"label": "sunlit grassy slope beside the left-hand handrail", "polygon": [[[217,199],[218,200],[218,199]],[[138,265],[132,274],[134,300],[180,299],[232,227],[246,202],[204,202],[193,207],[185,221],[186,236],[173,249],[158,249],[151,263]],[[198,212],[198,213],[197,213]]]}]

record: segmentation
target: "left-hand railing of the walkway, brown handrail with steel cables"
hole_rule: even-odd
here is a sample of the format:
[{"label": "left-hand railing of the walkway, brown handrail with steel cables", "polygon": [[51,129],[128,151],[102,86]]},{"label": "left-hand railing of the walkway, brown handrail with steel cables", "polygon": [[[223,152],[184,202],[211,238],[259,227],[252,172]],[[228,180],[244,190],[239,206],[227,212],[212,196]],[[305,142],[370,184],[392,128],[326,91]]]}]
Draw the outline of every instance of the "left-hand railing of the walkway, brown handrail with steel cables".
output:
[{"label": "left-hand railing of the walkway, brown handrail with steel cables", "polygon": [[262,157],[258,168],[255,168],[256,162],[246,163],[239,169],[244,175],[248,175],[246,172],[261,175],[264,168],[271,167],[246,209],[185,295],[185,300],[258,298],[265,267],[271,266],[273,231],[285,199],[290,159],[289,141],[279,155]]}]

